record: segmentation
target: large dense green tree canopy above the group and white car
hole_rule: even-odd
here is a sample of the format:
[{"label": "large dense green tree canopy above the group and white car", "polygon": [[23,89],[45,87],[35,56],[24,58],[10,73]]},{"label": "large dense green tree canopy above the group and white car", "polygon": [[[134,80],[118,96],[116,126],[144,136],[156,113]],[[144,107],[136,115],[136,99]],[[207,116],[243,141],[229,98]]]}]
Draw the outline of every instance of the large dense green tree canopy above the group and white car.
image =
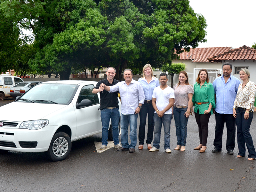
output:
[{"label": "large dense green tree canopy above the group and white car", "polygon": [[171,64],[182,48],[206,41],[206,21],[188,0],[0,2],[2,17],[12,21],[10,30],[33,31],[36,54],[30,68],[61,79],[68,79],[71,68],[109,66],[120,79],[124,68]]}]

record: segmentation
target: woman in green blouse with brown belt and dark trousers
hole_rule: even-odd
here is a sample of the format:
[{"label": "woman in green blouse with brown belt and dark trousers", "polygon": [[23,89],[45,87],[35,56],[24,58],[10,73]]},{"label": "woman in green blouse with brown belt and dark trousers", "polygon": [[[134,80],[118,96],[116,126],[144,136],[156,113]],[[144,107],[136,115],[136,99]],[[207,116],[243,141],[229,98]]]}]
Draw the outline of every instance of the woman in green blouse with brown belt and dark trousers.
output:
[{"label": "woman in green blouse with brown belt and dark trousers", "polygon": [[196,83],[194,84],[193,104],[195,106],[195,117],[198,125],[200,144],[194,148],[200,149],[200,153],[205,152],[208,138],[208,123],[212,114],[212,108],[215,108],[214,88],[209,83],[208,72],[201,69],[198,73]]}]

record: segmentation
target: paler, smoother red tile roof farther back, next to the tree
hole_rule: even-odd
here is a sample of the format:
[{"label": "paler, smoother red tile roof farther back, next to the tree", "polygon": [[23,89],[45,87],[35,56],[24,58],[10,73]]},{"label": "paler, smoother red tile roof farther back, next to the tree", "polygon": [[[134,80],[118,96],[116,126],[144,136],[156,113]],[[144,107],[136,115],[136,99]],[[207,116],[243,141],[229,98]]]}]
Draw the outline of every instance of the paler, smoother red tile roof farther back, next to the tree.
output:
[{"label": "paler, smoother red tile roof farther back, next to the tree", "polygon": [[192,62],[209,62],[207,58],[218,55],[232,49],[232,47],[207,47],[191,48],[189,52],[182,52],[180,60],[192,60]]}]

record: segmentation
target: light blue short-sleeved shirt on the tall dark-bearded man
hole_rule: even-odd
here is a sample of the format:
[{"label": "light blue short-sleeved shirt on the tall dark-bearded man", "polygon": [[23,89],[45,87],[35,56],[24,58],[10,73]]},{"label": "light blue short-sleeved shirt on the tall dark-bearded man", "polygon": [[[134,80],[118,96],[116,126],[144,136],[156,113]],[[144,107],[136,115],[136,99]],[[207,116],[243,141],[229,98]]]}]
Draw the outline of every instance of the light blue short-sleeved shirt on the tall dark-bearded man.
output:
[{"label": "light blue short-sleeved shirt on the tall dark-bearded man", "polygon": [[217,113],[233,114],[233,105],[239,84],[239,79],[232,75],[228,78],[227,83],[225,83],[223,75],[214,80],[212,85],[216,94],[215,111]]}]

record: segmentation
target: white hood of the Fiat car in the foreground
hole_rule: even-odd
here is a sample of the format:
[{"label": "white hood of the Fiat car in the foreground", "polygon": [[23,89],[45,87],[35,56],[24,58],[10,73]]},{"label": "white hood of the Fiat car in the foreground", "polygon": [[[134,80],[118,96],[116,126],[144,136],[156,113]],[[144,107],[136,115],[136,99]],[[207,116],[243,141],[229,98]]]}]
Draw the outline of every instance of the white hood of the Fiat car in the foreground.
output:
[{"label": "white hood of the Fiat car in the foreground", "polygon": [[43,119],[45,116],[67,106],[49,103],[12,102],[0,107],[0,121],[22,122]]}]

